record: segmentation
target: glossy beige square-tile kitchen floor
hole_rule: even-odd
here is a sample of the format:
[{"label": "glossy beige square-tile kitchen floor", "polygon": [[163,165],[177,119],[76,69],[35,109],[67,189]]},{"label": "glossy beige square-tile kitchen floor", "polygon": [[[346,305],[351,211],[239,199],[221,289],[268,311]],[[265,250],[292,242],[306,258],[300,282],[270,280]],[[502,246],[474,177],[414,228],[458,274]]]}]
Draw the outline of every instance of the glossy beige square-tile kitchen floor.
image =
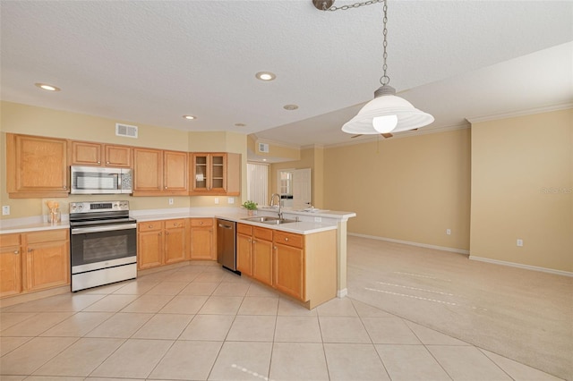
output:
[{"label": "glossy beige square-tile kitchen floor", "polygon": [[214,264],[0,311],[0,379],[555,380],[350,297],[311,311]]}]

